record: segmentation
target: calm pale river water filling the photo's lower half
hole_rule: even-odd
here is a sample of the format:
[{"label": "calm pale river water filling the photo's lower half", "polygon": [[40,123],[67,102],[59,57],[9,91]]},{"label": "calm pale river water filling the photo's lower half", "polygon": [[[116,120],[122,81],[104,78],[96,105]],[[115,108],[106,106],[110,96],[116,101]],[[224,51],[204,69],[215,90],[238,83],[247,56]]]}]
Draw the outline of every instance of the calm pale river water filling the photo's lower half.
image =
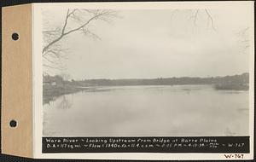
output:
[{"label": "calm pale river water filling the photo's lower half", "polygon": [[248,98],[210,85],[98,87],[45,104],[43,136],[244,136]]}]

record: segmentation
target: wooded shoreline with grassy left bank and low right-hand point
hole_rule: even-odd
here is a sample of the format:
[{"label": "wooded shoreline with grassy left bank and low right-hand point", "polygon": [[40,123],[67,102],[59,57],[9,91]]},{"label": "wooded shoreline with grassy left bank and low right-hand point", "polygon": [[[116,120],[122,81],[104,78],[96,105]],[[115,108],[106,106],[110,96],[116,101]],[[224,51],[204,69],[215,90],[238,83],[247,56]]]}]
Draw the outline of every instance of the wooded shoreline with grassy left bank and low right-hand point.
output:
[{"label": "wooded shoreline with grassy left bank and low right-hand point", "polygon": [[43,76],[44,104],[55,97],[71,94],[80,90],[94,90],[97,86],[129,86],[129,85],[184,85],[211,84],[216,90],[248,90],[249,73],[225,77],[181,77],[181,78],[132,78],[132,79],[84,79],[66,80],[60,75]]}]

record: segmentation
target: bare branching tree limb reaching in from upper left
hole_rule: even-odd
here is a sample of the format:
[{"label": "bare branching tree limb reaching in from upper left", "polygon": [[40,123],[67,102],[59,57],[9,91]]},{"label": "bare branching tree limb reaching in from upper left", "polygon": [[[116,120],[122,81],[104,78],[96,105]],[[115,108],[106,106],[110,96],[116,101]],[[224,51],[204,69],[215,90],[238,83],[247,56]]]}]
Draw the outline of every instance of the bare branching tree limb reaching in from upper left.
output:
[{"label": "bare branching tree limb reaching in from upper left", "polygon": [[61,45],[61,40],[73,32],[81,32],[91,38],[99,37],[90,30],[93,21],[111,22],[116,13],[109,9],[67,9],[63,26],[54,30],[44,31],[43,66],[48,69],[63,69],[61,60],[67,58],[67,49]]}]

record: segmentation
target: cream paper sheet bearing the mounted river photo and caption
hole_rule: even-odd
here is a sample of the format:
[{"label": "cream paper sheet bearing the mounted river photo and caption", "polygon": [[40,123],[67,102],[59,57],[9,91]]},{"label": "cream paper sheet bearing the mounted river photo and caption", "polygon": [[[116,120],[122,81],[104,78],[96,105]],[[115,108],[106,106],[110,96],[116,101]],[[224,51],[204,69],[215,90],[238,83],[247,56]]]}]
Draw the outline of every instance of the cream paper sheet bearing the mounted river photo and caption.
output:
[{"label": "cream paper sheet bearing the mounted river photo and caption", "polygon": [[34,155],[253,159],[253,2],[33,4]]}]

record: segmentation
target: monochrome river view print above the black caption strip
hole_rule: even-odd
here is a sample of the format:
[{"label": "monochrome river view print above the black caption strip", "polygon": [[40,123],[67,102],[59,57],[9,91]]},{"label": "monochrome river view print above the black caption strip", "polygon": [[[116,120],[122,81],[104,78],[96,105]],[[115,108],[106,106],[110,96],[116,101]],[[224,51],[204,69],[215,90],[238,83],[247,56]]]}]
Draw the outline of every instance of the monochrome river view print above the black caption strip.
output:
[{"label": "monochrome river view print above the black caption strip", "polygon": [[43,136],[249,136],[249,9],[41,13]]}]

